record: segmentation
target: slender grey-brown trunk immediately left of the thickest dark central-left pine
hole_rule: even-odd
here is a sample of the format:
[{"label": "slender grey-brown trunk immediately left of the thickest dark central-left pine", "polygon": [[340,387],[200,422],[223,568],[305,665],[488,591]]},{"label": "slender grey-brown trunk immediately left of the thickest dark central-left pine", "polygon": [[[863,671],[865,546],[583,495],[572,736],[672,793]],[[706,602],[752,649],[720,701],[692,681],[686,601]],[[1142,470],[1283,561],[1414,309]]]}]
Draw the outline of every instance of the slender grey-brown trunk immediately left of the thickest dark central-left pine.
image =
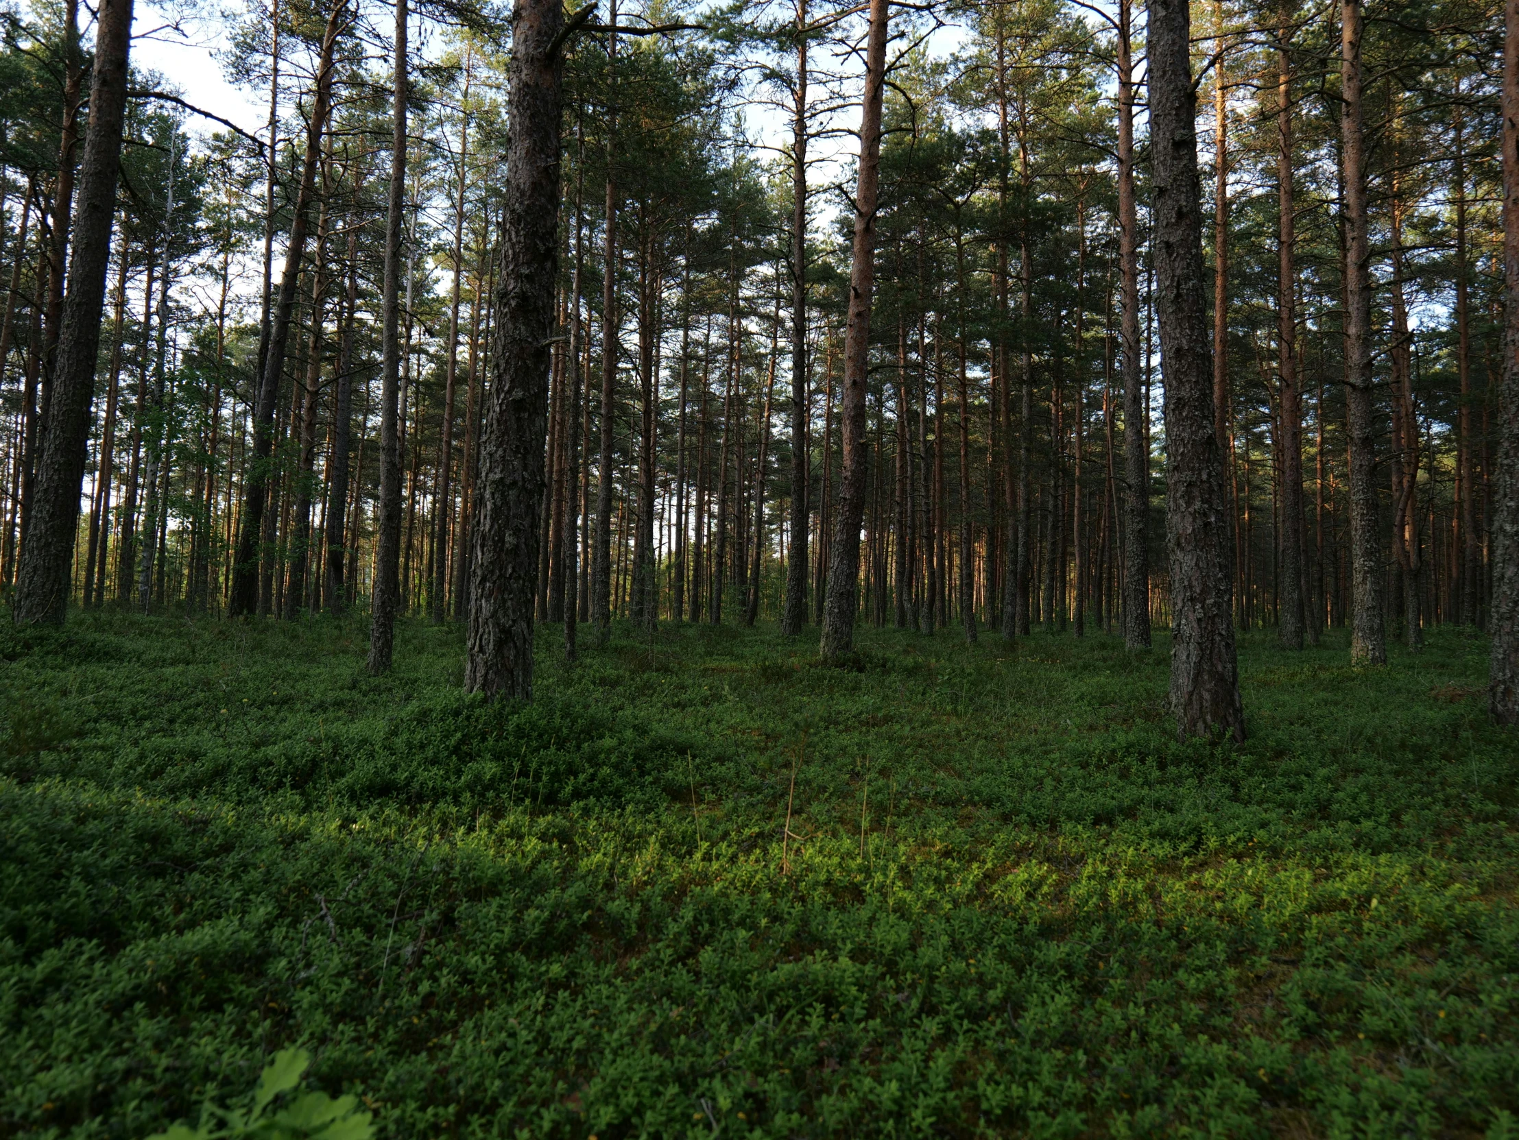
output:
[{"label": "slender grey-brown trunk immediately left of the thickest dark central-left pine", "polygon": [[396,434],[396,389],[401,379],[401,228],[406,217],[406,0],[396,0],[390,194],[380,316],[380,502],[369,603],[369,672],[390,668],[395,610],[401,601],[401,443]]}]

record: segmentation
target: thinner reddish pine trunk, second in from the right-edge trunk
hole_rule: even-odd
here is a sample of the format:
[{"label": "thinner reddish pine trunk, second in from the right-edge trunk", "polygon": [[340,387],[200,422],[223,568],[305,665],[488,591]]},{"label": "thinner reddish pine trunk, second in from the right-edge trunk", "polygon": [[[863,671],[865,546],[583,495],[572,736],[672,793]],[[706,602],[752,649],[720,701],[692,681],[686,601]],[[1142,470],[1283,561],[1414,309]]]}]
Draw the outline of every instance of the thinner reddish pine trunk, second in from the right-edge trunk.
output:
[{"label": "thinner reddish pine trunk, second in from the right-edge trunk", "polygon": [[[1297,269],[1293,202],[1291,61],[1287,15],[1277,29],[1276,203],[1277,294],[1276,352],[1282,436],[1282,527],[1277,636],[1284,648],[1303,648],[1303,411],[1297,383]],[[1217,411],[1217,410],[1215,410]]]}]

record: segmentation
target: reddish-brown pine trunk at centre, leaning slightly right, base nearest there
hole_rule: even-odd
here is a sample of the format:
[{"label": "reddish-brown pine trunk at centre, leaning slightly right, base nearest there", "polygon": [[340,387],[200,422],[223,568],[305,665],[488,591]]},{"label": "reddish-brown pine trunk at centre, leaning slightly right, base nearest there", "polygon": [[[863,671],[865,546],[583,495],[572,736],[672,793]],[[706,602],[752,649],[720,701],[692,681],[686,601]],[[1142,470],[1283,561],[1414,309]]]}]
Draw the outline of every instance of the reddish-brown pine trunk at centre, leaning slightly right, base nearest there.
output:
[{"label": "reddish-brown pine trunk at centre, leaning slightly right, base nearest there", "polygon": [[875,202],[881,173],[881,103],[886,93],[886,0],[870,0],[870,36],[864,61],[864,108],[860,117],[860,184],[855,190],[854,261],[849,270],[849,323],[845,331],[843,469],[838,521],[829,542],[828,594],[823,600],[823,660],[854,648],[860,607],[860,524],[864,518],[866,378],[870,364],[870,294],[875,285]]}]

